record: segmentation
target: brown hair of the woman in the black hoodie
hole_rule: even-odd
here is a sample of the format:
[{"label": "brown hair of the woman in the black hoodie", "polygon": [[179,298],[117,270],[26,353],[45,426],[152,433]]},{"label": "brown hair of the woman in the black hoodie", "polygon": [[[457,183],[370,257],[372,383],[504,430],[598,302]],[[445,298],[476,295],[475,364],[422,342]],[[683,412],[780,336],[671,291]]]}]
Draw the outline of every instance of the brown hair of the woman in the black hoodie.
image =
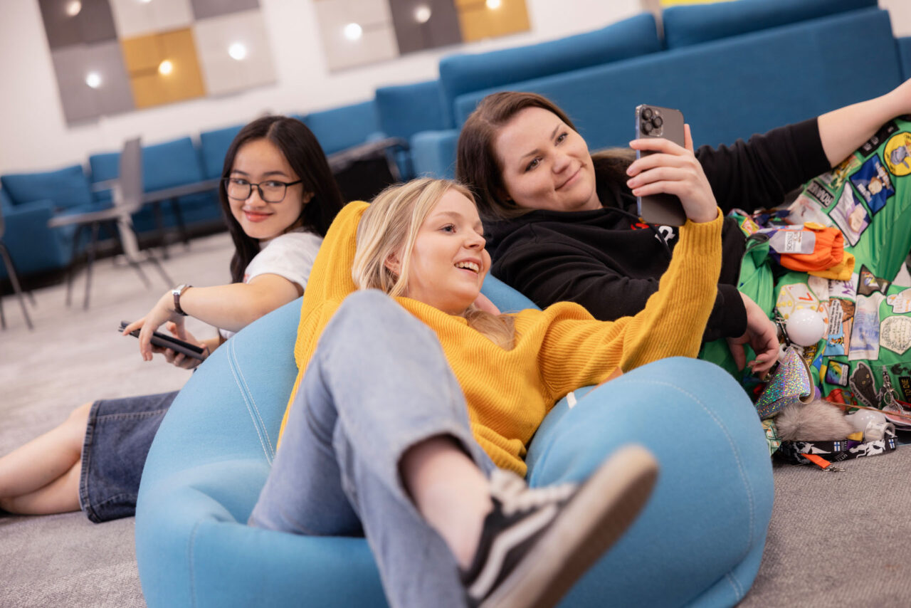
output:
[{"label": "brown hair of the woman in the black hoodie", "polygon": [[[507,122],[525,108],[542,108],[557,115],[569,129],[578,132],[576,125],[557,104],[536,93],[501,91],[481,100],[466,119],[458,136],[455,151],[455,179],[475,192],[477,208],[485,219],[516,217],[527,209],[510,201],[503,183],[503,167],[494,149],[496,135]],[[628,149],[606,149],[592,154],[596,174],[608,170],[625,182],[625,170],[635,154]]]}]

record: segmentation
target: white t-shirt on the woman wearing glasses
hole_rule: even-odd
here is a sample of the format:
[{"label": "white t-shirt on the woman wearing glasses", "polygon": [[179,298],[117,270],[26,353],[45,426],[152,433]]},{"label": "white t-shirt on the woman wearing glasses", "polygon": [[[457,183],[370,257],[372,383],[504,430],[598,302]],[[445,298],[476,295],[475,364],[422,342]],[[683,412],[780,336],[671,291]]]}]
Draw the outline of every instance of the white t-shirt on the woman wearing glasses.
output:
[{"label": "white t-shirt on the woman wearing glasses", "polygon": [[[321,244],[322,236],[302,230],[285,232],[261,243],[261,251],[247,264],[243,282],[250,283],[253,277],[261,274],[278,274],[304,289]],[[219,329],[219,333],[227,340],[236,332]]]}]

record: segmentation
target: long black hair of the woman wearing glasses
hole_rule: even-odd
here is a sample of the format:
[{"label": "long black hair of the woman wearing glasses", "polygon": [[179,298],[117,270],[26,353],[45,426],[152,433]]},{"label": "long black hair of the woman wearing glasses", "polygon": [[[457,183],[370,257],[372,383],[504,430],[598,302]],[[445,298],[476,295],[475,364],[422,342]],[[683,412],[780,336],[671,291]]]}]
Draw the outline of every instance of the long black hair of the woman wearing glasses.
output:
[{"label": "long black hair of the woman wearing glasses", "polygon": [[225,154],[225,164],[221,169],[222,180],[219,184],[221,211],[228,222],[228,232],[234,241],[234,256],[230,261],[232,283],[243,281],[244,270],[253,256],[260,252],[260,242],[247,236],[241,224],[234,219],[224,178],[230,177],[237,151],[255,139],[267,139],[280,149],[298,179],[302,180],[303,193],[313,193],[310,201],[303,205],[301,215],[295,224],[325,236],[329,224],[344,204],[342,192],[335,183],[326,155],[310,129],[307,129],[300,120],[284,116],[265,116],[253,120],[231,141],[230,148]]}]

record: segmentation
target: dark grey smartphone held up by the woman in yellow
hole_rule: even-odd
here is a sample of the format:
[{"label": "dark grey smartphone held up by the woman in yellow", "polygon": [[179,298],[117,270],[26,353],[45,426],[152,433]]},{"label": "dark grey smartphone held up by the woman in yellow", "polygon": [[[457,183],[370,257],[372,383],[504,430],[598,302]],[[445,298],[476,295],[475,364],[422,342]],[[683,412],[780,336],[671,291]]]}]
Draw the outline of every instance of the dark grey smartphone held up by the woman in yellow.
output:
[{"label": "dark grey smartphone held up by the woman in yellow", "polygon": [[[660,126],[654,126],[654,119],[645,119],[643,112],[649,108],[652,116],[660,117]],[[648,116],[648,112],[645,112]],[[646,124],[650,132],[646,132]],[[636,107],[636,139],[664,138],[670,139],[679,146],[683,145],[683,114],[679,109],[661,108],[643,104]],[[636,150],[636,158],[654,154],[649,150]],[[686,222],[681,200],[673,194],[650,194],[636,197],[639,216],[645,222],[662,226],[682,226]]]}]

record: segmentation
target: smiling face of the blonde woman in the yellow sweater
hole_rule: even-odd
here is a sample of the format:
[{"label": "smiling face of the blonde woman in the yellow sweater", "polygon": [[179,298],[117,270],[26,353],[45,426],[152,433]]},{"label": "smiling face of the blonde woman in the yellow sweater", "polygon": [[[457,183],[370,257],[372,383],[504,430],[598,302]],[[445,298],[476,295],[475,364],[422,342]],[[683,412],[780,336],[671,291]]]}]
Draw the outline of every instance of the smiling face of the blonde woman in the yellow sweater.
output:
[{"label": "smiling face of the blonde woman in the yellow sweater", "polygon": [[[490,269],[475,203],[448,190],[418,229],[407,268],[406,295],[448,314],[461,314],[481,293]],[[398,273],[398,262],[386,266]]]}]

